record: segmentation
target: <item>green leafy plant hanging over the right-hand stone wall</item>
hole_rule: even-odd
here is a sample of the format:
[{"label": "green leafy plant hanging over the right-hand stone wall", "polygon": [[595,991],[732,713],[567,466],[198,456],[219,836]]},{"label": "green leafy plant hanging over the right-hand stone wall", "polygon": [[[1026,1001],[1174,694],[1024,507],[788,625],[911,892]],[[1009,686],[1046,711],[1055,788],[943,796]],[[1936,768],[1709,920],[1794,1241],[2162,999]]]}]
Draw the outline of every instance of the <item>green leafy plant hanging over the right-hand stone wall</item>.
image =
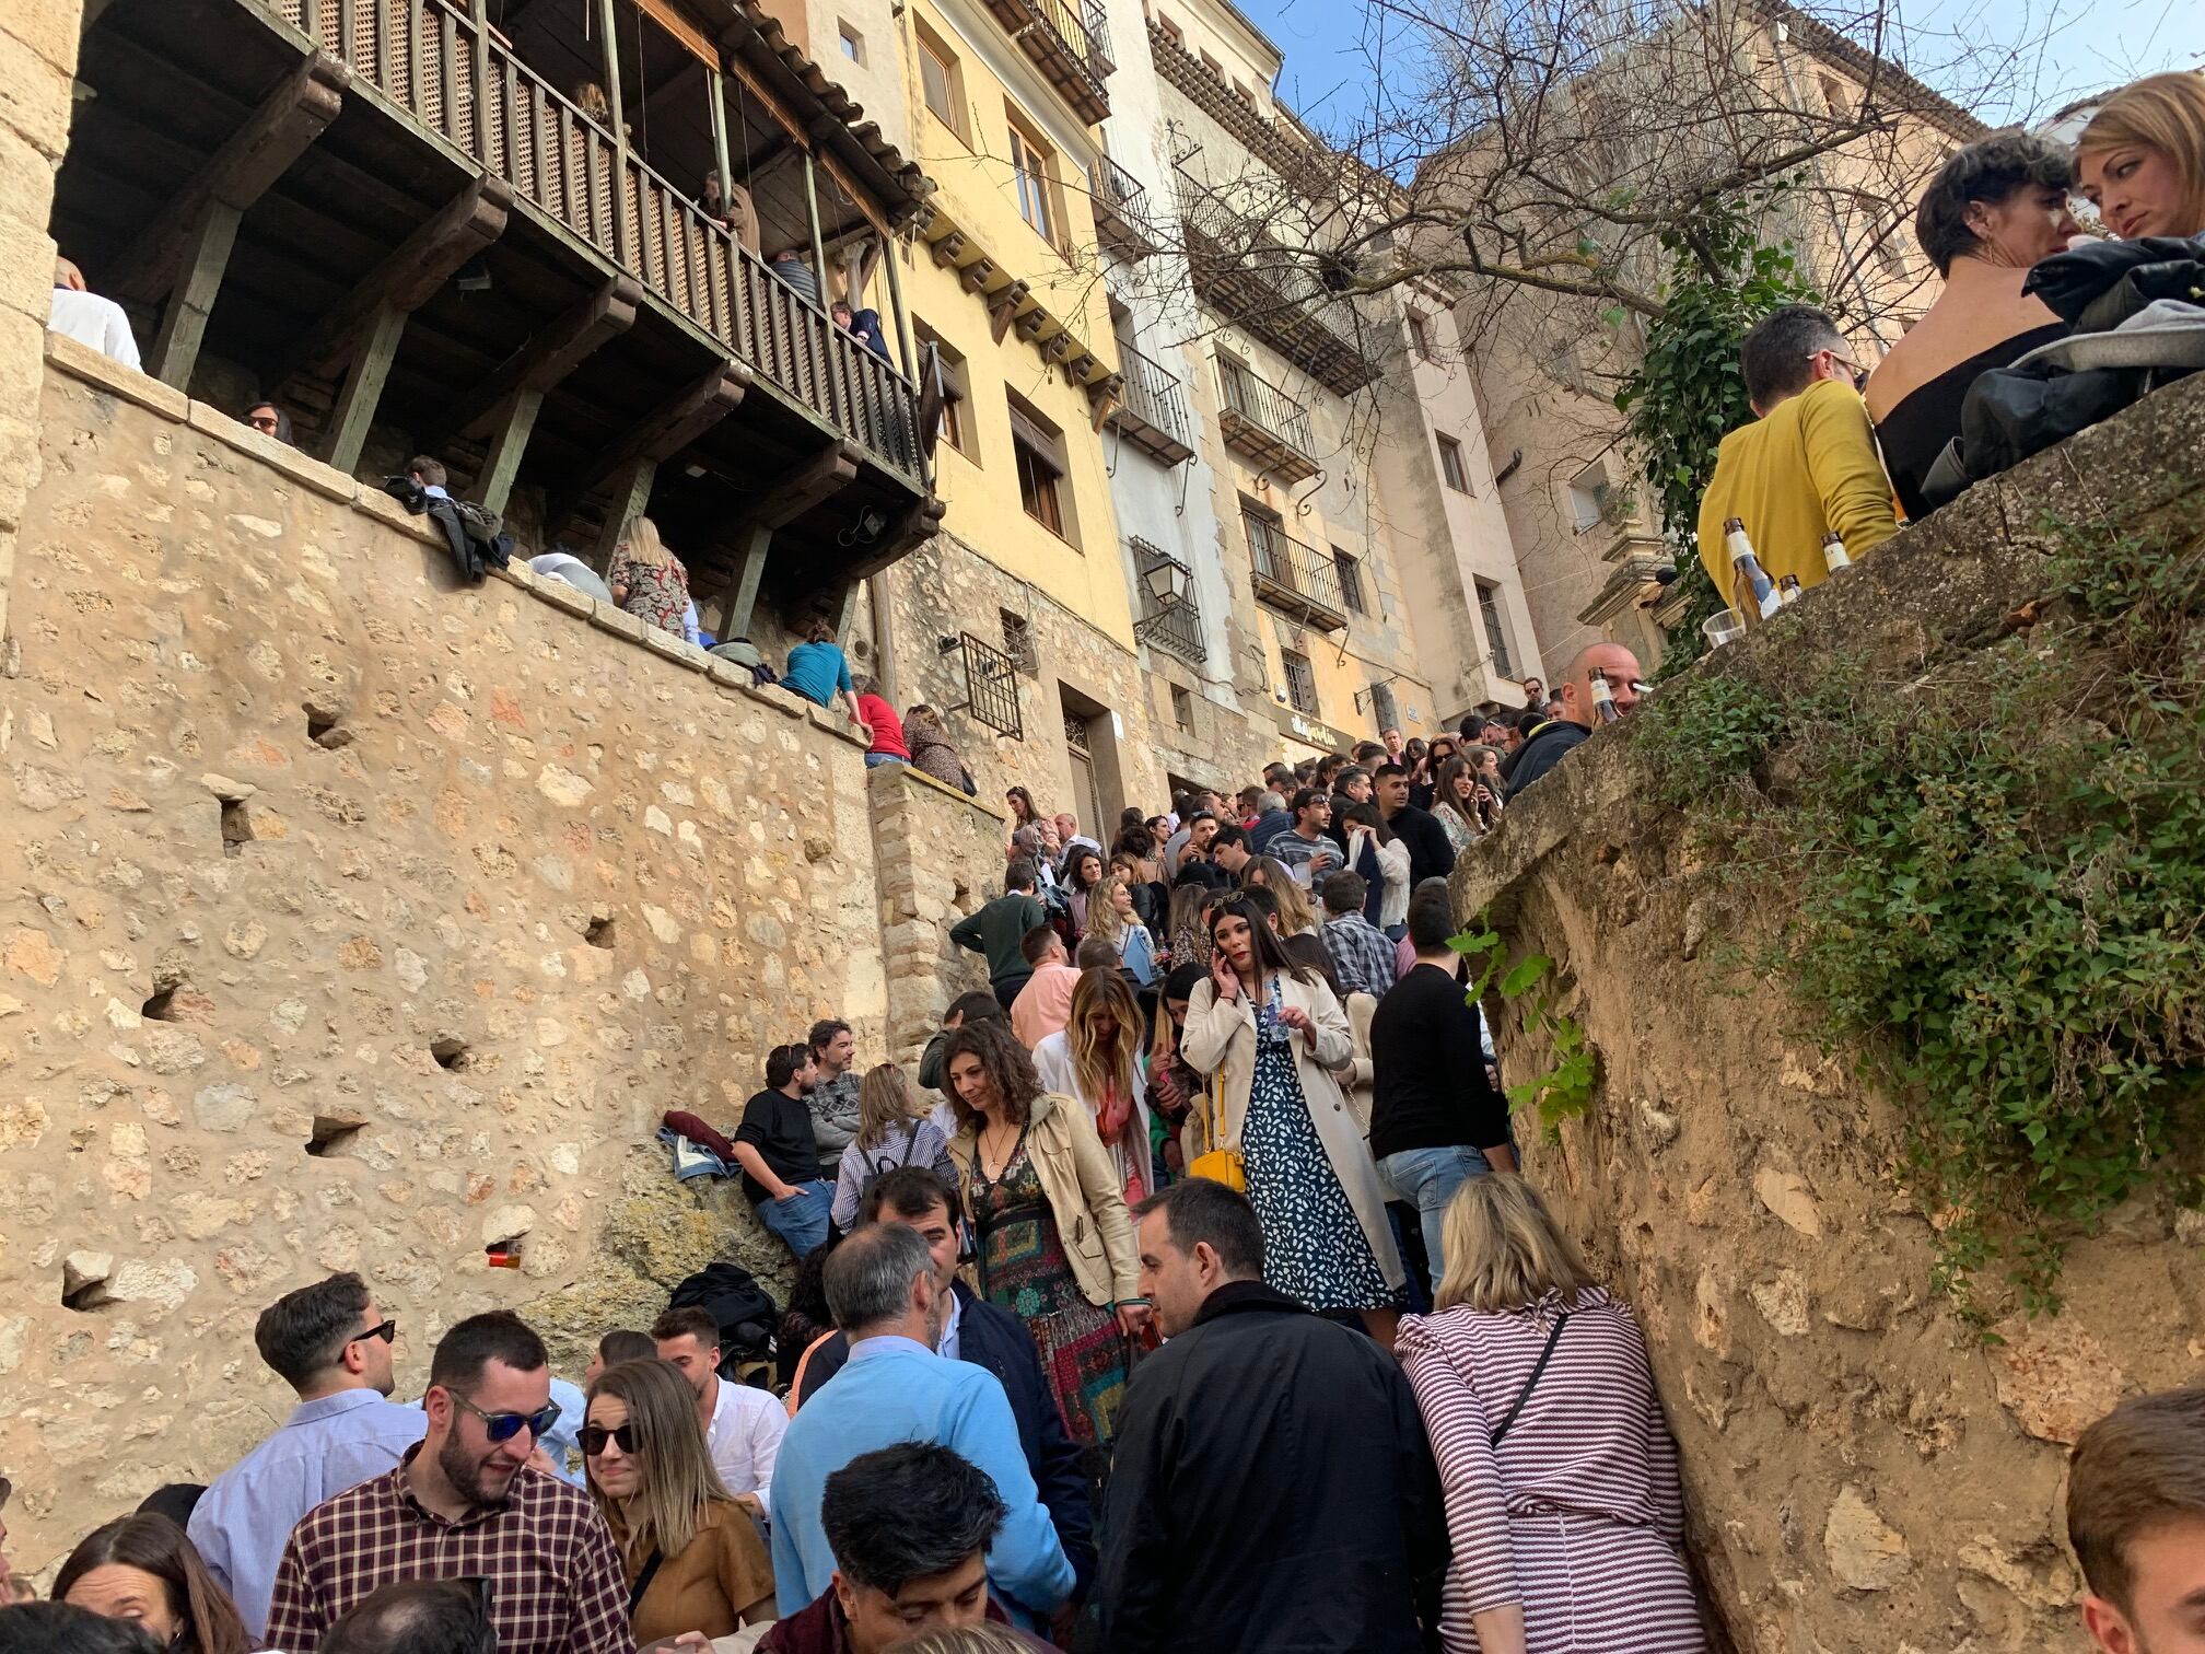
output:
[{"label": "green leafy plant hanging over the right-hand stone wall", "polygon": [[[1641,715],[1760,962],[1905,1116],[1936,1286],[2057,1306],[2066,1242],[2205,1125],[2205,549],[2075,534],[2033,631],[1927,679],[1693,675]],[[1815,1030],[1797,1030],[1815,1032]]]}]

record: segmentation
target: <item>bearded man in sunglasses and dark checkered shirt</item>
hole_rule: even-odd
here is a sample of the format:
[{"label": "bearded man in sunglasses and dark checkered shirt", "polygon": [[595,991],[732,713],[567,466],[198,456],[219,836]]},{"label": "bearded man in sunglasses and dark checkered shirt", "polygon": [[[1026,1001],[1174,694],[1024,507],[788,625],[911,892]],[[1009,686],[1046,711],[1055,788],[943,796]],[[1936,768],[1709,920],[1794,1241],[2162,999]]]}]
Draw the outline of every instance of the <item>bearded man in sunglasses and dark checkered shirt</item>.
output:
[{"label": "bearded man in sunglasses and dark checkered shirt", "polygon": [[487,1579],[501,1654],[633,1654],[628,1581],[591,1497],[529,1464],[558,1420],[542,1339],[474,1314],[430,1358],[428,1436],[395,1471],[293,1528],[267,1645],[318,1647],[355,1603],[401,1579]]}]

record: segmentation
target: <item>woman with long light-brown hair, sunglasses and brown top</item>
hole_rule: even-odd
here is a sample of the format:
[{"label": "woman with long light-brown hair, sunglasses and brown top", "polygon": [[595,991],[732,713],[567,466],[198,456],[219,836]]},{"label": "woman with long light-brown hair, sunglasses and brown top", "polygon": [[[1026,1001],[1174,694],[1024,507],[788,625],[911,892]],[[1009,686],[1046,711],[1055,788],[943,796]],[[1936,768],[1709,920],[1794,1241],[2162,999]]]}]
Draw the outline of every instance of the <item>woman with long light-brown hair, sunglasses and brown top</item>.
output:
[{"label": "woman with long light-brown hair, sunglasses and brown top", "polygon": [[664,1361],[622,1361],[589,1387],[582,1464],[628,1568],[637,1647],[732,1636],[774,1617],[774,1564],[721,1486],[697,1396]]}]

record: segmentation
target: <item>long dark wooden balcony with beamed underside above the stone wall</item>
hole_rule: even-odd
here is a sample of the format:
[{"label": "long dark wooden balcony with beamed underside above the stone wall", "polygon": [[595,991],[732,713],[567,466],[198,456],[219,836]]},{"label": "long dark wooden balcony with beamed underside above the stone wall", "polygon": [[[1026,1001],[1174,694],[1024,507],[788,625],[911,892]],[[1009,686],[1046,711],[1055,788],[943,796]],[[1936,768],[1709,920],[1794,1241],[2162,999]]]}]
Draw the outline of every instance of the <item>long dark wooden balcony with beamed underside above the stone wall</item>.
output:
[{"label": "long dark wooden balcony with beamed underside above the stone wall", "polygon": [[[770,68],[759,24],[725,11]],[[465,4],[130,0],[86,31],[79,77],[57,236],[141,337],[154,315],[163,342],[179,315],[203,329],[302,445],[364,395],[379,428],[448,459],[454,492],[501,468],[498,498],[540,485],[547,538],[648,503],[703,587],[761,520],[785,529],[778,595],[884,567],[931,525],[917,386]],[[322,90],[306,132],[300,86]],[[836,143],[822,165],[893,194],[886,146]],[[774,190],[761,179],[761,216]],[[194,287],[209,218],[234,247]]]}]

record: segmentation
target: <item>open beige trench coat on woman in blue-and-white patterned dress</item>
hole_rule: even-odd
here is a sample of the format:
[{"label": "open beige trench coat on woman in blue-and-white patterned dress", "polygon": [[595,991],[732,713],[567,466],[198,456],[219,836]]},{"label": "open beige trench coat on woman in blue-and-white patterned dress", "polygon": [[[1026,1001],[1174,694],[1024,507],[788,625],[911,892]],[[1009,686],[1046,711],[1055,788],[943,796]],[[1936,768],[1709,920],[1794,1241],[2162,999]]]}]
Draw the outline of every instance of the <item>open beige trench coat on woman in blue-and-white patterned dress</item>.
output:
[{"label": "open beige trench coat on woman in blue-and-white patterned dress", "polygon": [[[1332,1070],[1345,1067],[1354,1059],[1354,1039],[1347,1030],[1347,1012],[1341,1001],[1319,979],[1279,979],[1279,1003],[1301,1008],[1316,1030],[1316,1048],[1310,1039],[1294,1037],[1294,1074],[1301,1081],[1301,1098],[1316,1125],[1316,1140],[1325,1145],[1332,1175],[1341,1180],[1347,1204],[1354,1206],[1363,1237],[1378,1259],[1378,1270],[1387,1286],[1400,1290],[1409,1279],[1400,1266],[1400,1248],[1394,1244],[1394,1226],[1385,1217],[1385,1184],[1372,1162],[1363,1127],[1347,1111],[1347,1098]],[[1241,1120],[1248,1116],[1248,1092],[1255,1085],[1255,1003],[1248,995],[1233,1001],[1217,999],[1217,981],[1204,977],[1195,984],[1186,1003],[1186,1032],[1180,1037],[1180,1054],[1188,1067],[1222,1078],[1222,1127],[1217,1142],[1208,1140],[1208,1116],[1217,1107],[1211,1092],[1195,1100],[1186,1116],[1182,1149],[1186,1162],[1215,1149],[1239,1149]]]}]

